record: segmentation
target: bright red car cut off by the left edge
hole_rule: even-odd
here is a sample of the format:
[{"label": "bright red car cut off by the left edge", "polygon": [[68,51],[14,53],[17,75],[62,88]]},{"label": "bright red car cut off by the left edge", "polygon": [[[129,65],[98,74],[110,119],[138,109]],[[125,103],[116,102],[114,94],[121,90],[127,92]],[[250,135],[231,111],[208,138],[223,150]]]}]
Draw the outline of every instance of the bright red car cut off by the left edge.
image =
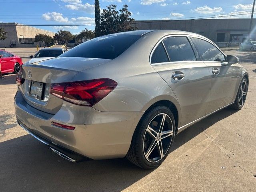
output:
[{"label": "bright red car cut off by the left edge", "polygon": [[2,73],[20,72],[20,66],[23,64],[20,57],[5,50],[0,50],[0,56]]}]

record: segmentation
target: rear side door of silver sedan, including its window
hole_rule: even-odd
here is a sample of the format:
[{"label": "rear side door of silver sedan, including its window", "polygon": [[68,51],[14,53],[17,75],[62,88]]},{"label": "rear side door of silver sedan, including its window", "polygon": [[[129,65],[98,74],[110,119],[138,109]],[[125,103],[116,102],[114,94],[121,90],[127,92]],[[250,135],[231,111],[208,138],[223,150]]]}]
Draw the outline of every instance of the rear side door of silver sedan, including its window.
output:
[{"label": "rear side door of silver sedan, including its window", "polygon": [[205,116],[211,77],[206,64],[197,60],[187,36],[163,38],[151,55],[151,64],[178,99],[181,126]]}]

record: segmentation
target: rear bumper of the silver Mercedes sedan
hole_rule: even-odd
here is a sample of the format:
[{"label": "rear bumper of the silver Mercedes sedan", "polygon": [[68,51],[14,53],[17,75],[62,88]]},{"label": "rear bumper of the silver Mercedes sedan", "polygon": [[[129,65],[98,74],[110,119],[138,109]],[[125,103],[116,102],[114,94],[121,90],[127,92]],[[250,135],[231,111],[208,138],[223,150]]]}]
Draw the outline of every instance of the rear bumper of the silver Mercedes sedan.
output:
[{"label": "rear bumper of the silver Mercedes sedan", "polygon": [[[134,130],[144,114],[100,112],[92,107],[76,106],[68,102],[63,102],[56,114],[48,114],[28,105],[19,89],[14,106],[18,123],[42,142],[54,149],[69,150],[94,160],[124,157],[129,150]],[[53,126],[51,122],[76,128],[66,130]]]}]

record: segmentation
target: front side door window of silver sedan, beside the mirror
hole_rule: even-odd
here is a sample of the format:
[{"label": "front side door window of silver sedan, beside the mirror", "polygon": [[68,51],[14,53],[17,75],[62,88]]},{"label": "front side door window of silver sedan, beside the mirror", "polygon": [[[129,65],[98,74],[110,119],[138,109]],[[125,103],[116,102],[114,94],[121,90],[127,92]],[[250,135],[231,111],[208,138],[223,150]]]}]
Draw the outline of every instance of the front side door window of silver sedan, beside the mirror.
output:
[{"label": "front side door window of silver sedan, beside the mirror", "polygon": [[222,54],[222,52],[220,52],[214,45],[198,38],[193,38],[193,40],[202,61],[226,61],[224,54]]}]

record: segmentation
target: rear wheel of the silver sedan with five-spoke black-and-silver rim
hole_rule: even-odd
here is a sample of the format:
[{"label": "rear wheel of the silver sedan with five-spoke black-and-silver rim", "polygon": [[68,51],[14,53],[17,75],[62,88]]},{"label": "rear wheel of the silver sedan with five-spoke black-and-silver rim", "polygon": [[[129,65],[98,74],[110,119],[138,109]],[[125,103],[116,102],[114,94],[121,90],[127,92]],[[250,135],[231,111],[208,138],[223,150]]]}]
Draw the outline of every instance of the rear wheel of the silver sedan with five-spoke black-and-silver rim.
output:
[{"label": "rear wheel of the silver sedan with five-spoke black-and-silver rim", "polygon": [[[161,126],[163,120],[164,126]],[[143,169],[157,168],[170,153],[174,136],[175,120],[172,111],[165,106],[154,106],[138,123],[126,158]]]}]

